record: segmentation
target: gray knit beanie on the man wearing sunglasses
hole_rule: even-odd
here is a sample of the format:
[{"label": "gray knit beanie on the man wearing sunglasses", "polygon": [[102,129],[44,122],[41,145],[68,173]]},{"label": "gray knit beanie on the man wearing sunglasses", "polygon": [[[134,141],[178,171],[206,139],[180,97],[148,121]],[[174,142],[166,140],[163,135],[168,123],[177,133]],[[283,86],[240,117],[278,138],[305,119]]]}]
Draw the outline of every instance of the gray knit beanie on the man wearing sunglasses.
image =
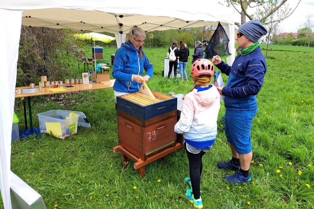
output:
[{"label": "gray knit beanie on the man wearing sunglasses", "polygon": [[242,24],[238,32],[243,33],[246,38],[254,43],[258,42],[258,39],[262,37],[262,35],[266,35],[268,33],[265,26],[258,20],[251,20],[244,24]]}]

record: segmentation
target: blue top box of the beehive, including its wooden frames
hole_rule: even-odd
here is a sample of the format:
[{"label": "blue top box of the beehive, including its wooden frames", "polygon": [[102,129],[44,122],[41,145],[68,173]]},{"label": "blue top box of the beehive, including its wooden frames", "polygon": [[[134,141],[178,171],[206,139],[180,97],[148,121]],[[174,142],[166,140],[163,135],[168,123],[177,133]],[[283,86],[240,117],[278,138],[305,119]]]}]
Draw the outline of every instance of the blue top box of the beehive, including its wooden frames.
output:
[{"label": "blue top box of the beehive, including its wooden frames", "polygon": [[[155,99],[160,102],[154,101],[153,98],[148,99],[147,96],[136,92],[117,97],[117,109],[133,115],[140,120],[148,120],[149,118],[176,110],[176,97],[171,97],[157,91],[152,91],[152,93]],[[143,97],[143,99],[135,97]]]}]

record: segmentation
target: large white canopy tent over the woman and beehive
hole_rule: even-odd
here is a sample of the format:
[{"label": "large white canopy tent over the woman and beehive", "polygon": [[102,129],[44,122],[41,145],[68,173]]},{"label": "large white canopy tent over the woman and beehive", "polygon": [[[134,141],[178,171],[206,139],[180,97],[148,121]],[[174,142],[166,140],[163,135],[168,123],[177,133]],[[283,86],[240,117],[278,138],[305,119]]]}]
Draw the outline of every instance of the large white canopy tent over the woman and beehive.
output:
[{"label": "large white canopy tent over the woman and beehive", "polygon": [[220,4],[198,2],[191,9],[191,2],[177,3],[160,0],[157,3],[140,3],[120,0],[0,0],[0,186],[3,205],[11,209],[10,156],[11,128],[14,109],[17,60],[21,24],[30,27],[68,28],[77,31],[107,31],[116,34],[117,46],[133,25],[145,31],[184,29],[220,22],[229,36],[229,51],[234,60],[234,10]]}]

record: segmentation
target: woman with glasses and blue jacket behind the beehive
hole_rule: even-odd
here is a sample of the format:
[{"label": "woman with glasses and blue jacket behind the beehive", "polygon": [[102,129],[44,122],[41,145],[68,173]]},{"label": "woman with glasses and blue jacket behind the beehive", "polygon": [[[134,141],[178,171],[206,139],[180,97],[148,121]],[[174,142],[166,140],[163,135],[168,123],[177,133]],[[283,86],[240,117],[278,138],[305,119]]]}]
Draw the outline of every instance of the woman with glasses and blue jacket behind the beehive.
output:
[{"label": "woman with glasses and blue jacket behind the beehive", "polygon": [[[126,35],[127,41],[116,50],[112,76],[116,79],[113,89],[115,97],[139,91],[143,82],[153,76],[153,65],[143,52],[145,31],[133,26]],[[145,76],[142,76],[143,71]]]}]

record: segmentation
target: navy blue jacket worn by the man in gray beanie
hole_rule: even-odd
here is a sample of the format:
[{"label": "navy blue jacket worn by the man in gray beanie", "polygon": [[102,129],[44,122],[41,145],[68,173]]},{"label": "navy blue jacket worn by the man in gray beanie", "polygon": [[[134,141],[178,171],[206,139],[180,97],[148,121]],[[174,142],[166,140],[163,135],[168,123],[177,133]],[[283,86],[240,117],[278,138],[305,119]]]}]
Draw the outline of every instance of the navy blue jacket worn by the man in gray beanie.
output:
[{"label": "navy blue jacket worn by the man in gray beanie", "polygon": [[216,66],[229,76],[227,86],[222,89],[225,107],[235,111],[257,109],[256,95],[267,71],[261,48],[257,47],[245,56],[239,54],[232,66],[224,62]]}]

